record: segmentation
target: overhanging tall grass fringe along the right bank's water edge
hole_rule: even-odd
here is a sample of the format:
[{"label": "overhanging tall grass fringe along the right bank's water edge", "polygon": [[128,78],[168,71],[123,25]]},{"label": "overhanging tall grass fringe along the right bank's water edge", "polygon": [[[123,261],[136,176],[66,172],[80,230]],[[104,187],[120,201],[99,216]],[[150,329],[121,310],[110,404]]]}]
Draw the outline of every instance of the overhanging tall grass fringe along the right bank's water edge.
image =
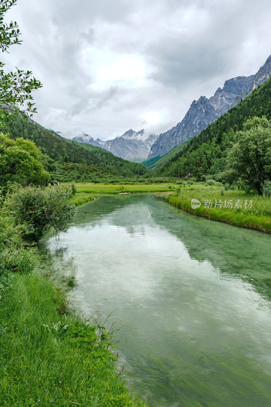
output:
[{"label": "overhanging tall grass fringe along the right bank's water edge", "polygon": [[185,200],[177,196],[176,194],[169,193],[157,193],[158,197],[164,198],[167,202],[183,211],[189,212],[195,216],[201,216],[217,222],[224,222],[230,225],[245,227],[247,229],[259,230],[264,233],[271,233],[271,219],[268,216],[259,216],[254,214],[243,214],[237,212],[223,211],[223,209],[212,208],[191,208],[191,201]]}]

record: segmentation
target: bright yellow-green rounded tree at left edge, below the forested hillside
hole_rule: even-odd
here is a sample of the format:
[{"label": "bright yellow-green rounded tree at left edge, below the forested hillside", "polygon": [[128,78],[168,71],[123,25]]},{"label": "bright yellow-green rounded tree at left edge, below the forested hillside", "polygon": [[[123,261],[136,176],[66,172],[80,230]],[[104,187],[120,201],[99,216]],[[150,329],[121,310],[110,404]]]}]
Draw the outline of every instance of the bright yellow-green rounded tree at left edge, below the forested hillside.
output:
[{"label": "bright yellow-green rounded tree at left edge, below the forested hillside", "polygon": [[23,138],[12,140],[0,134],[0,185],[46,185],[50,175],[40,160],[41,153],[33,141]]}]

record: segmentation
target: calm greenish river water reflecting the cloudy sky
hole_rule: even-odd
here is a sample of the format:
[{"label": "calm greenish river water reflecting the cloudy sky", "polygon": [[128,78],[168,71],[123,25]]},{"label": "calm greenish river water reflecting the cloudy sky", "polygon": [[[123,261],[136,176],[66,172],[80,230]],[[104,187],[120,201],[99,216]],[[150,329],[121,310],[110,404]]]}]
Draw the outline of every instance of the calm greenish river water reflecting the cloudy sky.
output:
[{"label": "calm greenish river water reflecting the cloudy sky", "polygon": [[122,326],[118,368],[150,407],[271,406],[270,235],[118,195],[40,253],[76,307]]}]

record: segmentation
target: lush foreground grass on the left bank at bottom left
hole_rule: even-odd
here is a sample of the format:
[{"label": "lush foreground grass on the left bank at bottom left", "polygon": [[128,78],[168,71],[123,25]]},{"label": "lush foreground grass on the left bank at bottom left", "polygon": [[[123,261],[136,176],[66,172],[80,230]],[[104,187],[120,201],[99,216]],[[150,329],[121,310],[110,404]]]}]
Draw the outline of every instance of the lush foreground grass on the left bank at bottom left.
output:
[{"label": "lush foreground grass on the left bank at bottom left", "polygon": [[0,305],[1,406],[145,405],[118,376],[105,331],[97,339],[97,326],[66,312],[50,281],[14,275]]}]

